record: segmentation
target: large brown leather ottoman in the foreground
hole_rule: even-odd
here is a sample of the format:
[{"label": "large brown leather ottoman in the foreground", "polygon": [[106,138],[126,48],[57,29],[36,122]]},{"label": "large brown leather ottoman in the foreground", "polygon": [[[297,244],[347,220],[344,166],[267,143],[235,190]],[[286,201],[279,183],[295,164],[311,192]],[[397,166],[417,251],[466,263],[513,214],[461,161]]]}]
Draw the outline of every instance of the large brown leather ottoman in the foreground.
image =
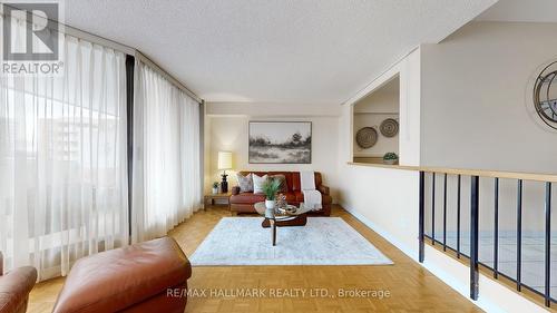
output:
[{"label": "large brown leather ottoman in the foreground", "polygon": [[80,258],[58,295],[55,313],[183,313],[192,265],[169,237]]}]

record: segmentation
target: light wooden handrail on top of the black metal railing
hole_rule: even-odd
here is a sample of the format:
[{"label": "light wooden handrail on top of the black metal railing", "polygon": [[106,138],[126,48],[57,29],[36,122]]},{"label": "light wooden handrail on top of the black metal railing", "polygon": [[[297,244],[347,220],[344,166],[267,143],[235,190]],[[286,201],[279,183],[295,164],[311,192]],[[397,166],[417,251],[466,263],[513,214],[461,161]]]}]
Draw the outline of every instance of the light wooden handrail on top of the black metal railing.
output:
[{"label": "light wooden handrail on top of the black metal railing", "polygon": [[393,169],[417,170],[417,172],[421,170],[427,173],[447,173],[449,175],[480,176],[480,177],[494,177],[494,178],[498,177],[508,179],[557,183],[557,174],[538,174],[538,173],[430,167],[430,166],[387,165],[387,164],[354,163],[354,162],[349,162],[348,164],[358,166],[380,167],[380,168],[393,168]]}]

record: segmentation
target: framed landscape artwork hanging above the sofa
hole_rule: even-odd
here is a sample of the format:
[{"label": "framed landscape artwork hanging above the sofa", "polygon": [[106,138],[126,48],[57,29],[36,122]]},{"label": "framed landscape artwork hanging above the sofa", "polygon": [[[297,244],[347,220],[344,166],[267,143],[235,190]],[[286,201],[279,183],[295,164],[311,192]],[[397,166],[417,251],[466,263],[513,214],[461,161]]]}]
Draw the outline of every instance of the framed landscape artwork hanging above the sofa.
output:
[{"label": "framed landscape artwork hanging above the sofa", "polygon": [[311,121],[250,121],[250,163],[311,164]]}]

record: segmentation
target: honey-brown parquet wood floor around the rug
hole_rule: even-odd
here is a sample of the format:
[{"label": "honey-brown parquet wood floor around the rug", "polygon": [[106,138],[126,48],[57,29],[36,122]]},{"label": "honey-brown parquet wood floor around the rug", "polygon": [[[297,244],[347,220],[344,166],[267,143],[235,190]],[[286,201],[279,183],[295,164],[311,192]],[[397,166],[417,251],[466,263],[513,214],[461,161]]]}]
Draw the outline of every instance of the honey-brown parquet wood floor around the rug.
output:
[{"label": "honey-brown parquet wood floor around the rug", "polygon": [[[335,206],[332,215],[346,221],[394,265],[194,267],[189,288],[205,290],[207,296],[189,297],[186,312],[481,312],[341,207]],[[192,255],[223,216],[229,216],[226,208],[209,207],[196,213],[169,235],[176,238],[187,255]],[[51,312],[62,284],[63,278],[38,284],[31,292],[28,312]],[[297,290],[300,293],[306,291],[306,295],[233,297],[209,294],[211,291],[236,288],[280,288],[292,294]],[[330,295],[339,290],[358,288],[389,292],[389,296],[310,296],[310,292],[316,288],[326,290]]]}]

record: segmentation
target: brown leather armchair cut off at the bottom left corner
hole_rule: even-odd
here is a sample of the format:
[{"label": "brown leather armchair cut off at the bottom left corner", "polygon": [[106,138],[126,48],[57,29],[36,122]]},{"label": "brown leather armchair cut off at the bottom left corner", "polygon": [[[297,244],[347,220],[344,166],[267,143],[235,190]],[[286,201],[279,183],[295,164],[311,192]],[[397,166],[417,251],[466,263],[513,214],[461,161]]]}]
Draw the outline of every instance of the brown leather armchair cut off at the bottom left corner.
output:
[{"label": "brown leather armchair cut off at the bottom left corner", "polygon": [[37,270],[25,266],[3,275],[2,265],[3,256],[0,253],[0,313],[25,313],[29,293],[37,281]]}]

